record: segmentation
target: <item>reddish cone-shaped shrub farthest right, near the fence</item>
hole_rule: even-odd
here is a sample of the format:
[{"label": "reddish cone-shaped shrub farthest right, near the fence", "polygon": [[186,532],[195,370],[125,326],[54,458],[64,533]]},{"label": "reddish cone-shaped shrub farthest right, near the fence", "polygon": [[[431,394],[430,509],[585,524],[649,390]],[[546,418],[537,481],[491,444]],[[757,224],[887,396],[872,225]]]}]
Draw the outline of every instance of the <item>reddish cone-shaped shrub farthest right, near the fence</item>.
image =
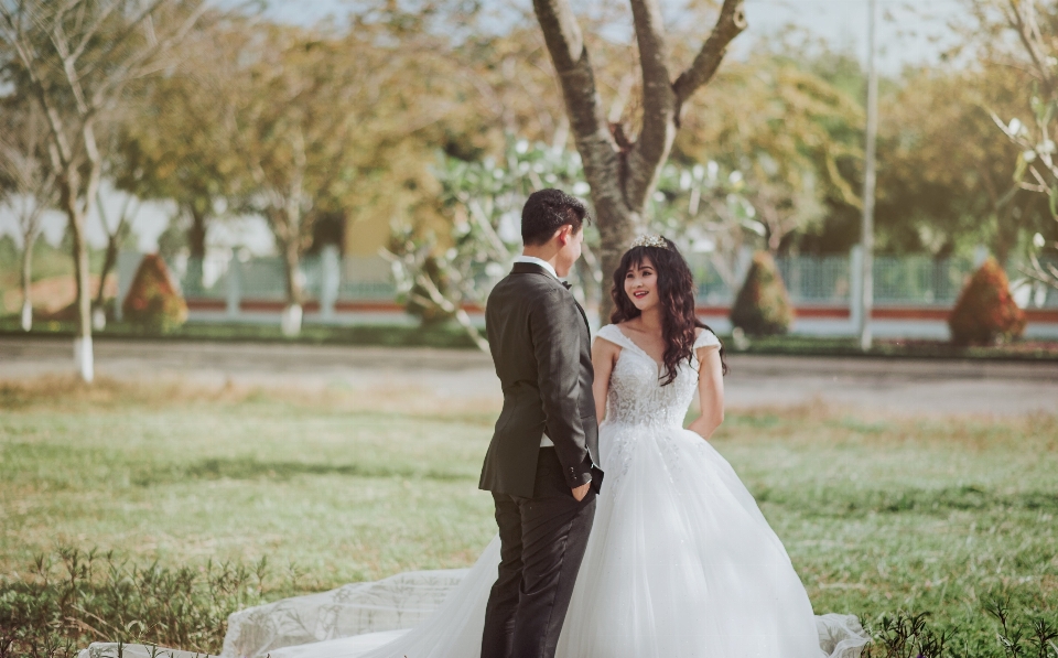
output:
[{"label": "reddish cone-shaped shrub farthest right, near the fence", "polygon": [[956,345],[1006,343],[1025,331],[1025,312],[1014,303],[1006,272],[994,258],[984,261],[962,289],[948,327]]}]

